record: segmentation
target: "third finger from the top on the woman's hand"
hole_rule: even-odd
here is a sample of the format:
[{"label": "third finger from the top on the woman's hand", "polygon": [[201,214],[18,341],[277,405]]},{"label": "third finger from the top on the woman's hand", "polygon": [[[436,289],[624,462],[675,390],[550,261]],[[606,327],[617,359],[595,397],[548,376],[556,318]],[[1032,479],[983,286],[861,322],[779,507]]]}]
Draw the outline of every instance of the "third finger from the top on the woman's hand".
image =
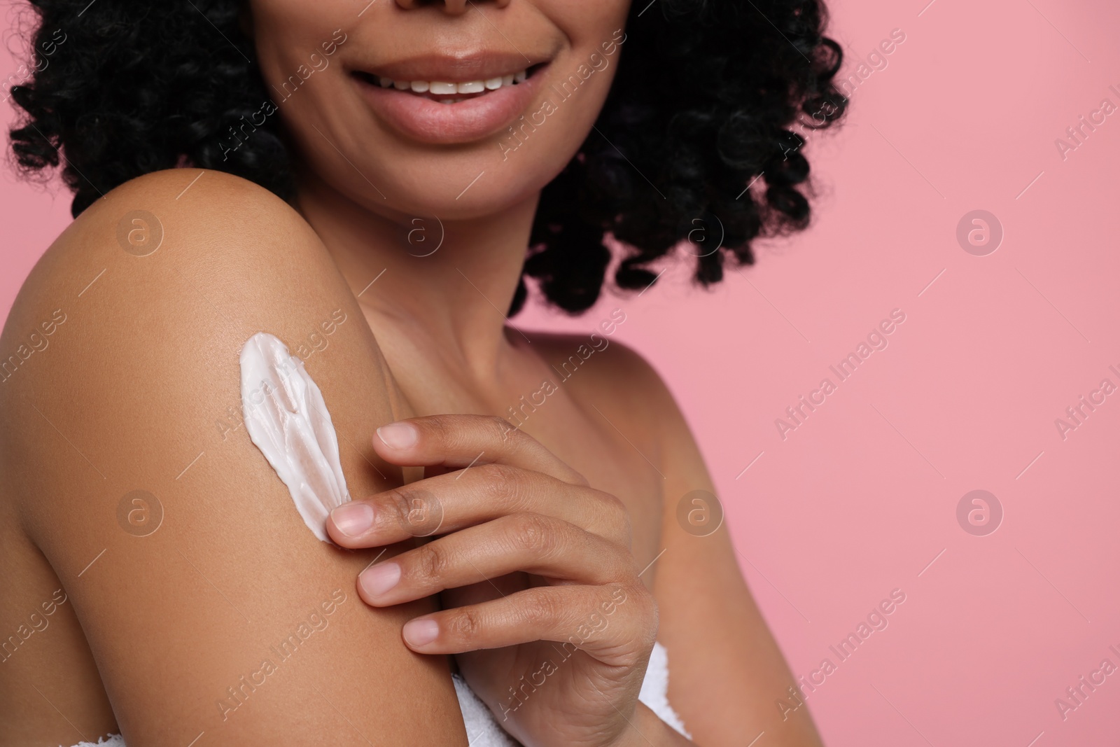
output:
[{"label": "third finger from the top on the woman's hand", "polygon": [[573,583],[637,578],[625,548],[552,516],[517,513],[371,566],[358,576],[358,594],[388,607],[516,571]]}]

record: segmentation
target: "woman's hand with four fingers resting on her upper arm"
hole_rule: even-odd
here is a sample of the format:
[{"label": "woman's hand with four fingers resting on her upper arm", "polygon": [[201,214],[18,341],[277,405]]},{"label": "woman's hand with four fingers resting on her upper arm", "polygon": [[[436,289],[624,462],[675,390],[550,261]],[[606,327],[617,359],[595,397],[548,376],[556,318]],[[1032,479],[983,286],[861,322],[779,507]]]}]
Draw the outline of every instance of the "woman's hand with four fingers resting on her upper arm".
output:
[{"label": "woman's hand with four fingers resting on her upper arm", "polygon": [[[435,415],[377,429],[377,454],[422,480],[335,508],[345,548],[436,536],[358,577],[375,607],[440,595],[405,644],[457,654],[497,721],[525,745],[628,744],[657,608],[631,554],[622,502],[501,418]],[[433,469],[435,468],[435,469]]]}]

